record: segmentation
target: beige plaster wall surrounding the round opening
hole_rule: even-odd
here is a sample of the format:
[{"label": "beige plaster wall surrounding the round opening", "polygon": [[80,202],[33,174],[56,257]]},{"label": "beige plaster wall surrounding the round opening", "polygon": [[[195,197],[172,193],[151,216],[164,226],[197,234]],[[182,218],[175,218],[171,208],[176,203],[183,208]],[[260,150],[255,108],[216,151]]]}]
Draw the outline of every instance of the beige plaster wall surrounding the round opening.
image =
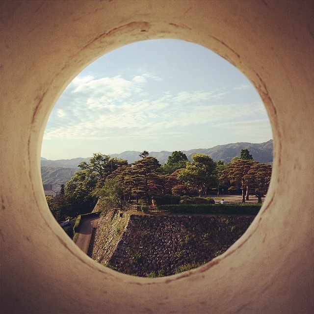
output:
[{"label": "beige plaster wall surrounding the round opening", "polygon": [[[313,1],[4,0],[0,12],[2,313],[313,312]],[[85,256],[53,220],[39,161],[71,79],[149,38],[193,41],[235,64],[259,91],[275,144],[248,231],[221,257],[163,279]]]}]

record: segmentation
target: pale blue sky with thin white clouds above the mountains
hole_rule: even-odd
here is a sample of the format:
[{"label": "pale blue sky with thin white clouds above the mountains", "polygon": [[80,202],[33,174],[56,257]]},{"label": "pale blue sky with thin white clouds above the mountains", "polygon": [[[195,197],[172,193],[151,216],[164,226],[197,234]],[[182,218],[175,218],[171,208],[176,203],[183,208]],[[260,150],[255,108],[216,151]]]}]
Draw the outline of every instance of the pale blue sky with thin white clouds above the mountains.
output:
[{"label": "pale blue sky with thin white clouds above the mountains", "polygon": [[41,156],[183,151],[272,138],[262,100],[231,63],[181,40],[106,53],[67,86],[48,120]]}]

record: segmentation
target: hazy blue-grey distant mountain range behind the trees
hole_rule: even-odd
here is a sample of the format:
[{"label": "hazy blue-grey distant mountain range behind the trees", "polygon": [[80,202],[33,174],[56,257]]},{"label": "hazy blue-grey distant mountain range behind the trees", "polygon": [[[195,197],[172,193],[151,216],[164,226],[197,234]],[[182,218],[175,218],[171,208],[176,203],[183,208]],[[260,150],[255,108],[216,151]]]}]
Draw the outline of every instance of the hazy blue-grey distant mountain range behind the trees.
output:
[{"label": "hazy blue-grey distant mountain range behind the trees", "polygon": [[[226,145],[217,145],[212,148],[207,149],[192,149],[189,151],[182,151],[188,160],[192,160],[192,155],[195,153],[201,153],[209,155],[213,160],[223,160],[225,162],[230,162],[235,156],[240,156],[240,151],[243,148],[248,148],[250,154],[253,156],[254,160],[271,163],[273,161],[273,140],[268,142],[253,144],[253,143],[234,143]],[[128,160],[132,163],[140,159],[139,154],[141,152],[136,151],[126,151],[121,154],[110,154],[110,157],[122,158]],[[156,157],[160,164],[164,164],[168,157],[171,156],[172,152],[161,151],[161,152],[149,152],[150,156]],[[89,158],[73,158],[73,159],[58,159],[58,160],[48,160],[46,158],[41,158],[41,172],[43,183],[51,183],[53,185],[60,185],[68,182],[71,177],[77,171],[78,164],[81,161],[89,162]]]}]

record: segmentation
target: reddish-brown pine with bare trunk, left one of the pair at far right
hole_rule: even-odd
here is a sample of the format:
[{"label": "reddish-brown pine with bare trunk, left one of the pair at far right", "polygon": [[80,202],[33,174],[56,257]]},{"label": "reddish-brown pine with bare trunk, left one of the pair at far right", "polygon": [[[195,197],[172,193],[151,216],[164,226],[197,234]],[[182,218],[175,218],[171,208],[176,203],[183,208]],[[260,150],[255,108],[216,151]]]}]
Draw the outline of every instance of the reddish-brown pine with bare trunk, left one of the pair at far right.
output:
[{"label": "reddish-brown pine with bare trunk, left one of the pair at far right", "polygon": [[[255,161],[238,159],[231,162],[227,169],[223,170],[219,181],[229,186],[235,186],[242,190],[242,203],[245,203],[245,194],[249,189],[249,180],[247,174]],[[248,195],[247,195],[248,196]]]}]

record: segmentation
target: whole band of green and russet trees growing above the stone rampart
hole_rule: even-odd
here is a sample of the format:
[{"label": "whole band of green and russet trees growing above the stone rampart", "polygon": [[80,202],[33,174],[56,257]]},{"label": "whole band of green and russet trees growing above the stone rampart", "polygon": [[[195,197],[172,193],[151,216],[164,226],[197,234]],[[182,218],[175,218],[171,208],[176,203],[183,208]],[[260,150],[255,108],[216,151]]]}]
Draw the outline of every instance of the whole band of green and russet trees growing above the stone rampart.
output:
[{"label": "whole band of green and russet trees growing above the stone rampart", "polygon": [[271,176],[271,166],[254,161],[248,149],[229,164],[213,161],[206,154],[194,154],[190,162],[180,151],[173,152],[164,166],[147,151],[139,156],[132,164],[103,154],[93,154],[89,163],[81,162],[61,193],[47,199],[53,215],[62,220],[90,212],[98,199],[105,207],[121,207],[123,200],[131,199],[150,205],[165,194],[204,197],[211,188],[219,192],[219,185],[241,189],[242,202],[254,189],[262,202]]}]

